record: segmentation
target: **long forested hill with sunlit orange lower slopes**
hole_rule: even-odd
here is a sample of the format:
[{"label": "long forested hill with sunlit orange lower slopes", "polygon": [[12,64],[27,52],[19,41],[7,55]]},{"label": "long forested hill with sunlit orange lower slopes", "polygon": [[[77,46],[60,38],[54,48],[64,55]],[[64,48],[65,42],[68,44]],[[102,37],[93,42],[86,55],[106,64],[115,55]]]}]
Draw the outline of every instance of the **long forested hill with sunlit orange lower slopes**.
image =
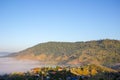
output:
[{"label": "long forested hill with sunlit orange lower slopes", "polygon": [[105,39],[87,42],[47,42],[11,56],[51,64],[111,65],[120,63],[120,41]]}]

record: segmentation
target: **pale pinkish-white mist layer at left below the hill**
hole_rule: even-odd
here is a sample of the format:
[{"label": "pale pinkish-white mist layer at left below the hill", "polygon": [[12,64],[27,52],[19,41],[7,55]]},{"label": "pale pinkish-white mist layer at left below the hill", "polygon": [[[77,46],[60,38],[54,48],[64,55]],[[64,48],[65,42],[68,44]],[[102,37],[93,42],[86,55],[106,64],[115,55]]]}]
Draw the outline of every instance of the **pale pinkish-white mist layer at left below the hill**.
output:
[{"label": "pale pinkish-white mist layer at left below the hill", "polygon": [[14,58],[0,58],[0,74],[26,72],[35,67],[40,67],[40,63],[38,61],[22,61]]}]

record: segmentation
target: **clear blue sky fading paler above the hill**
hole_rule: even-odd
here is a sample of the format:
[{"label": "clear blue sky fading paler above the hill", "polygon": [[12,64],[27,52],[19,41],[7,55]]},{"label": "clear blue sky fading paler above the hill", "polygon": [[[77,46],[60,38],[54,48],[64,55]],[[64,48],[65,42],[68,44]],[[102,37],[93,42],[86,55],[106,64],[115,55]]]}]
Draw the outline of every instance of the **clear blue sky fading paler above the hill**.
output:
[{"label": "clear blue sky fading paler above the hill", "polygon": [[120,0],[0,0],[0,52],[99,39],[120,40]]}]

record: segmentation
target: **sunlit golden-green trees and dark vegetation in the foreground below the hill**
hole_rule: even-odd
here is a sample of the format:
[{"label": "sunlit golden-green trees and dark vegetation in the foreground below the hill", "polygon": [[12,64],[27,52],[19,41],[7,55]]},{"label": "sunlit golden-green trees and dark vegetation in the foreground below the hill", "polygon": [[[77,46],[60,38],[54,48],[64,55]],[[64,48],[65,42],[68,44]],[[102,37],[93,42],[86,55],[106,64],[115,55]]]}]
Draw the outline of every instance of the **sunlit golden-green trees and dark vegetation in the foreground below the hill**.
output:
[{"label": "sunlit golden-green trees and dark vegetation in the foreground below the hill", "polygon": [[26,73],[11,73],[0,80],[120,80],[120,72],[103,66],[42,67]]}]

